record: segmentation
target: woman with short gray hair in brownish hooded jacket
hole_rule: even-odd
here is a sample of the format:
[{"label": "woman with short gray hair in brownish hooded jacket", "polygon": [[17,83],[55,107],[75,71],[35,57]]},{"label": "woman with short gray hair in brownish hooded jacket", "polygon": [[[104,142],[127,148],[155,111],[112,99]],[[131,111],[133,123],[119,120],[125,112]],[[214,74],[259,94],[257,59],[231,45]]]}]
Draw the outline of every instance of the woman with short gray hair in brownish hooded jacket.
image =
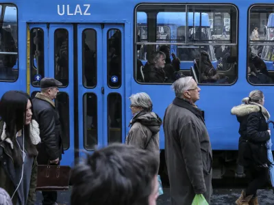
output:
[{"label": "woman with short gray hair in brownish hooded jacket", "polygon": [[159,154],[159,131],[162,120],[152,112],[151,98],[145,92],[140,92],[133,94],[129,99],[132,102],[130,109],[133,117],[129,123],[130,130],[125,143]]}]

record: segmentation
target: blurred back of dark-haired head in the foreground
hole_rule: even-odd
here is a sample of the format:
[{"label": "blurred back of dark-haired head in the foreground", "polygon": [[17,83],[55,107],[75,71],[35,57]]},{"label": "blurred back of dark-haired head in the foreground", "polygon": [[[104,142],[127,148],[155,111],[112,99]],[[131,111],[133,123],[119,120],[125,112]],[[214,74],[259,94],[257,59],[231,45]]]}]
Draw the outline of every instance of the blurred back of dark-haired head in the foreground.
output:
[{"label": "blurred back of dark-haired head in the foreground", "polygon": [[153,152],[125,144],[96,150],[73,169],[72,205],[147,205],[158,174]]}]

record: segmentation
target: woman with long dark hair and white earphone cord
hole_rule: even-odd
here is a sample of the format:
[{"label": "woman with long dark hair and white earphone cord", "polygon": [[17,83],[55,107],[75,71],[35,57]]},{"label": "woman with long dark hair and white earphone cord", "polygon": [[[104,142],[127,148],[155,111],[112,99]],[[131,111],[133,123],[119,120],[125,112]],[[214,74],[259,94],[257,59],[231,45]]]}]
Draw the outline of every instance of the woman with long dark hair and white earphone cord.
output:
[{"label": "woman with long dark hair and white earphone cord", "polygon": [[0,100],[0,187],[14,205],[35,203],[40,142],[38,123],[32,120],[32,100],[24,92],[8,91]]}]

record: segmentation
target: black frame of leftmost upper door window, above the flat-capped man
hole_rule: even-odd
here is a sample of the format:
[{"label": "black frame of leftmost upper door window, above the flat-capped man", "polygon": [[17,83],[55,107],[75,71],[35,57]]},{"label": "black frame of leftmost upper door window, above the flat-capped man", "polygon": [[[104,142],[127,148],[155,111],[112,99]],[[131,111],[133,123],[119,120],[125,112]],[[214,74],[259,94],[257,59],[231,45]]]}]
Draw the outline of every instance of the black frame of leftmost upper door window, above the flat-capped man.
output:
[{"label": "black frame of leftmost upper door window, above the flat-capped man", "polygon": [[[33,87],[40,87],[40,81],[37,81],[38,85],[34,85],[34,82],[36,82],[36,81],[34,81],[34,76],[35,75],[32,72],[33,69],[37,70],[37,68],[34,66],[34,55],[33,55],[33,53],[34,53],[33,52],[34,51],[33,45],[35,45],[35,44],[34,44],[34,38],[32,38],[32,31],[34,29],[40,29],[40,31],[42,31],[42,50],[43,50],[42,51],[43,52],[42,57],[44,59],[44,65],[43,65],[43,68],[42,68],[42,74],[38,73],[38,74],[41,75],[42,78],[45,77],[45,31],[44,31],[44,29],[42,29],[40,27],[34,27],[29,31],[29,39],[30,39],[30,44],[29,44],[29,66],[30,66],[29,69],[30,69],[30,72],[29,72],[29,74],[30,74],[30,79],[31,79],[32,86]],[[37,61],[36,61],[36,64],[37,64]]]}]

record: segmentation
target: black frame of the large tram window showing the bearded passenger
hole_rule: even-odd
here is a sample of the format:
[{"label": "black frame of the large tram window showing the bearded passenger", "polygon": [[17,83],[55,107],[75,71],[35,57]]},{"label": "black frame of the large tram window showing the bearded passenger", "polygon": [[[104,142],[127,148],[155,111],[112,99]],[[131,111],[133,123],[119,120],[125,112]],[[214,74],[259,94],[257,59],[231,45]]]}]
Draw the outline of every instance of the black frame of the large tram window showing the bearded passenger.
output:
[{"label": "black frame of the large tram window showing the bearded passenger", "polygon": [[[136,29],[138,29],[138,22],[137,22],[137,13],[138,12],[145,12],[147,14],[147,22],[149,23],[149,14],[155,14],[157,15],[159,12],[186,12],[188,15],[189,13],[191,13],[192,11],[190,9],[197,7],[197,11],[193,11],[193,12],[200,12],[200,13],[217,13],[217,10],[219,10],[221,8],[221,13],[223,14],[229,14],[231,23],[230,23],[230,29],[229,29],[229,33],[232,34],[236,34],[236,35],[230,35],[229,40],[225,39],[225,40],[214,40],[214,39],[210,39],[208,40],[208,42],[206,43],[201,43],[201,42],[195,42],[195,44],[197,44],[197,46],[199,46],[199,49],[201,49],[202,46],[212,46],[212,48],[214,49],[214,46],[229,46],[229,48],[231,49],[231,54],[233,55],[233,62],[232,63],[228,63],[230,66],[228,67],[227,70],[222,69],[222,70],[218,70],[217,68],[215,68],[216,71],[218,71],[217,73],[223,74],[225,72],[227,72],[227,75],[229,77],[232,77],[231,80],[227,83],[210,83],[210,82],[198,82],[199,85],[223,85],[223,86],[229,86],[229,85],[234,85],[234,83],[236,83],[238,81],[238,36],[239,36],[239,10],[238,7],[234,4],[230,4],[230,3],[225,3],[225,4],[221,4],[221,3],[209,3],[209,4],[203,4],[203,3],[169,3],[169,4],[163,4],[163,3],[140,3],[138,5],[136,5],[135,9],[134,9],[134,80],[136,81],[136,83],[141,84],[141,85],[171,85],[172,83],[148,83],[148,82],[143,82],[140,81],[139,77],[137,79],[137,75],[138,75],[138,66],[137,66],[137,61],[138,61],[138,57],[137,57],[137,46],[139,45],[149,45],[149,46],[155,46],[156,44],[159,44],[158,40],[154,40],[153,38],[151,38],[150,40],[148,40],[148,42],[138,42],[137,40],[137,35],[136,35]],[[206,8],[205,8],[206,7]],[[151,13],[149,13],[151,11]],[[186,16],[186,18],[188,18]],[[151,20],[157,21],[155,19],[155,17],[151,17]],[[166,18],[168,19],[168,17]],[[150,20],[150,21],[151,21]],[[233,20],[233,22],[232,22]],[[200,26],[202,27],[200,21]],[[225,23],[224,23],[225,24]],[[199,26],[199,27],[200,27]],[[189,27],[188,22],[186,23],[186,25],[184,27]],[[209,27],[210,28],[210,27]],[[232,30],[233,29],[233,30]],[[187,30],[187,29],[186,29]],[[148,31],[149,32],[149,31]],[[173,31],[171,31],[172,33]],[[177,33],[177,29],[175,31]],[[210,33],[211,34],[211,33]],[[152,34],[150,34],[152,35]],[[155,35],[155,34],[154,34]],[[149,36],[149,34],[148,34]],[[233,37],[234,36],[234,37]],[[173,42],[174,41],[174,42]],[[186,40],[187,41],[187,40]],[[206,41],[206,40],[204,40]],[[213,42],[214,41],[214,42]],[[177,46],[177,45],[187,45],[187,46],[192,46],[193,43],[190,42],[178,42],[177,39],[173,40],[171,39],[170,43],[160,43],[162,45],[166,44],[169,45],[170,48],[171,46]],[[154,51],[156,51],[156,49],[154,49]],[[201,50],[200,50],[201,51]],[[171,51],[171,53],[173,53]],[[177,53],[175,53],[177,55]],[[216,56],[216,55],[215,55]],[[147,57],[147,59],[149,59],[149,57]],[[142,59],[139,59],[142,61]],[[194,62],[195,60],[193,60]],[[189,61],[191,63],[191,61]],[[181,60],[182,63],[182,60]],[[218,61],[216,61],[216,66],[218,64]],[[142,65],[145,66],[145,65]],[[192,70],[195,70],[195,68],[193,68],[194,66],[192,66],[192,68],[181,68],[179,70],[179,72],[189,72],[191,76],[194,76],[194,74],[192,74]],[[141,69],[141,68],[140,68]],[[188,74],[189,75],[189,74]],[[223,76],[225,77],[225,79],[227,79],[227,76]]]}]

